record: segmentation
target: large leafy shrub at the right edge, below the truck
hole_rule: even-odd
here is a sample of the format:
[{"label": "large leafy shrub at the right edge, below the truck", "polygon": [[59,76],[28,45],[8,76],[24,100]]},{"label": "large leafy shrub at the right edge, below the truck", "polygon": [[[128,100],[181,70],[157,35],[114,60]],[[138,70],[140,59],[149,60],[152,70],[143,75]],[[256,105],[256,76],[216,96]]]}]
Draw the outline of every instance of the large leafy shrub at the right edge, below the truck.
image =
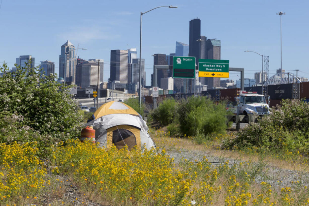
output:
[{"label": "large leafy shrub at the right edge, below the truck", "polygon": [[309,104],[300,100],[283,100],[270,115],[239,131],[224,148],[256,146],[275,151],[307,152],[309,149]]}]

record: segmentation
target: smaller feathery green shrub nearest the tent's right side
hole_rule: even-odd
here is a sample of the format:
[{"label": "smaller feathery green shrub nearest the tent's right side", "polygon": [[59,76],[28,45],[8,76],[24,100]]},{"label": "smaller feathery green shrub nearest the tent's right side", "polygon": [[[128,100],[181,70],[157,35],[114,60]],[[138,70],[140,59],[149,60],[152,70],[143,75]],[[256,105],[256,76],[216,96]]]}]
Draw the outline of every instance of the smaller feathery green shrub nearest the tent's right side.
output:
[{"label": "smaller feathery green shrub nearest the tent's right side", "polygon": [[165,99],[151,113],[153,121],[161,122],[162,125],[168,125],[177,120],[178,103],[174,99]]}]

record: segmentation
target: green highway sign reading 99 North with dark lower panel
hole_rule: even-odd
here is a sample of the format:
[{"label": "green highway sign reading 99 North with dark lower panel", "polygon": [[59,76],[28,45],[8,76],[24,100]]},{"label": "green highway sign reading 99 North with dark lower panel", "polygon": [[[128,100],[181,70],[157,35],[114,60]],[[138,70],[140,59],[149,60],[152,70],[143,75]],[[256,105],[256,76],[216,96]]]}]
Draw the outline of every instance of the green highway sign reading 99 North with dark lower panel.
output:
[{"label": "green highway sign reading 99 North with dark lower panel", "polygon": [[195,57],[173,57],[174,78],[195,78]]}]

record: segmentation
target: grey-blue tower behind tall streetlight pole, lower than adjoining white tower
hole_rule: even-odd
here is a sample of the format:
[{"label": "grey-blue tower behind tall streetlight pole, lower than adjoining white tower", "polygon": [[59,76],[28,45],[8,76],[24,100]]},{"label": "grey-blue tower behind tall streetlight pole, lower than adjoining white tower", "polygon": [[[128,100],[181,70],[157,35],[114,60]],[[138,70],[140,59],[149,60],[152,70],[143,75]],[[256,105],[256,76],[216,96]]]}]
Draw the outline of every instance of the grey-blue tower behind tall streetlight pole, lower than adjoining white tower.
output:
[{"label": "grey-blue tower behind tall streetlight pole, lower than adjoining white tower", "polygon": [[[139,59],[132,59],[132,64],[129,64],[128,69],[128,83],[139,85]],[[142,59],[142,85],[145,86],[145,59]]]}]

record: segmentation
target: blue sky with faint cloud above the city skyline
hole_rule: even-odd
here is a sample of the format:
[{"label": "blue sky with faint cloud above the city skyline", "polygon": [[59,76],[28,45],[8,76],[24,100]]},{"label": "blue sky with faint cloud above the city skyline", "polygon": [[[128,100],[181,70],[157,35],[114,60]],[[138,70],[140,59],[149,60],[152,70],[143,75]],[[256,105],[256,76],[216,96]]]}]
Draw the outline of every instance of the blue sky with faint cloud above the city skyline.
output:
[{"label": "blue sky with faint cloud above the city skyline", "polygon": [[[245,68],[245,77],[261,71],[261,57],[269,56],[269,75],[280,68],[280,16],[282,15],[282,68],[309,78],[309,1],[209,0],[209,1],[79,1],[0,0],[0,62],[14,67],[15,58],[31,54],[36,61],[55,62],[59,69],[61,45],[70,40],[80,58],[104,59],[104,79],[109,78],[110,50],[137,48],[140,12],[143,15],[142,58],[146,84],[153,71],[152,54],[175,53],[176,41],[189,41],[189,21],[201,19],[201,35],[221,40],[221,59],[230,67]],[[229,79],[239,79],[230,72]],[[223,78],[222,78],[223,79]]]}]

